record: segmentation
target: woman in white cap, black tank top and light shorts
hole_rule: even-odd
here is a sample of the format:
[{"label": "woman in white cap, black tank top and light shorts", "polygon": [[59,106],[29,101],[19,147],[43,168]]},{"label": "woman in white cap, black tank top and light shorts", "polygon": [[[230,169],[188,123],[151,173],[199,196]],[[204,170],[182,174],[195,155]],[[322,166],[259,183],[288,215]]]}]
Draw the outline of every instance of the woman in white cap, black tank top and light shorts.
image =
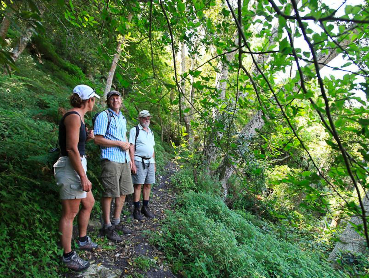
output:
[{"label": "woman in white cap, black tank top and light shorts", "polygon": [[[70,96],[72,109],[67,111],[59,123],[59,146],[61,156],[54,164],[56,184],[59,185],[62,202],[62,216],[59,221],[61,245],[64,253],[62,261],[75,271],[85,270],[90,266],[72,250],[73,219],[78,214],[80,250],[92,250],[97,244],[87,236],[87,225],[95,199],[92,195],[92,184],[89,181],[85,143],[94,139],[93,130],[87,131],[84,116],[92,111],[95,98],[100,98],[91,87],[78,85]],[[79,209],[80,204],[81,209]]]}]

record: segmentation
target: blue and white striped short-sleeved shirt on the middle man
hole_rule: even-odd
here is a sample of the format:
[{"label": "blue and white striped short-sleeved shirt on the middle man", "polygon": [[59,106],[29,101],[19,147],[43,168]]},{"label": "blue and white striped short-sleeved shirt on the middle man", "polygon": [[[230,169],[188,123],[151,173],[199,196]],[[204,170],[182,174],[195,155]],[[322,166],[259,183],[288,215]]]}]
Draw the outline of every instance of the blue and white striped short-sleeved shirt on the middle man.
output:
[{"label": "blue and white striped short-sleeved shirt on the middle man", "polygon": [[[113,112],[109,129],[106,130],[108,126],[108,115],[103,111],[96,118],[94,125],[95,135],[103,135],[104,138],[109,140],[127,142],[127,120],[124,118],[122,112],[119,111],[119,114],[117,114],[110,108],[108,110]],[[121,147],[101,147],[100,159],[128,163],[130,161],[130,155],[128,151],[124,151]]]}]

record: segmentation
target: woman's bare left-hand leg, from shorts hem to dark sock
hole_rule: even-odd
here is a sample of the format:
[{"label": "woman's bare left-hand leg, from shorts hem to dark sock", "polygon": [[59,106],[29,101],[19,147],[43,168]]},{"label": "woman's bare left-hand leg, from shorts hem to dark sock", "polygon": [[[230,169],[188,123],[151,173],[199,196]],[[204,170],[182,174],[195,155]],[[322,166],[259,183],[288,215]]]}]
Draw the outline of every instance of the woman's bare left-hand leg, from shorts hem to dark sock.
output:
[{"label": "woman's bare left-hand leg, from shorts hem to dark sock", "polygon": [[59,220],[60,241],[64,253],[72,251],[73,219],[78,213],[81,199],[62,200],[62,216]]}]

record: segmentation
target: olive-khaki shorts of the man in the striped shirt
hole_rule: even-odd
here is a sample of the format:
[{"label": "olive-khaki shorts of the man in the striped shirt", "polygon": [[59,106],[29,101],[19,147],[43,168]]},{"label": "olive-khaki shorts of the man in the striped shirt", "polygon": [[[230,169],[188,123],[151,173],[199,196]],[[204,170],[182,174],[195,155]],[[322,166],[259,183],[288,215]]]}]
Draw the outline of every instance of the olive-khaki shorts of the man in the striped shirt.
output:
[{"label": "olive-khaki shorts of the man in the striped shirt", "polygon": [[101,183],[105,189],[103,197],[117,198],[132,194],[130,163],[101,160]]}]

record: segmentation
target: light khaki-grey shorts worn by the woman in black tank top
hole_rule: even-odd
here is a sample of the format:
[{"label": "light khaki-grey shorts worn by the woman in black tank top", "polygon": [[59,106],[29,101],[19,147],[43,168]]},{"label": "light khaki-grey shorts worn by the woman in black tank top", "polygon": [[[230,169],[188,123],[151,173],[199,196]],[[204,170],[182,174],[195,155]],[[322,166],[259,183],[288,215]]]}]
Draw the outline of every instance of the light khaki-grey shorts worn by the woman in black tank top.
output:
[{"label": "light khaki-grey shorts worn by the woman in black tank top", "polygon": [[[81,157],[81,163],[85,173],[87,172],[86,157]],[[56,184],[60,186],[60,199],[83,199],[87,192],[82,190],[81,178],[74,170],[68,156],[59,157],[54,164],[54,176]]]}]

